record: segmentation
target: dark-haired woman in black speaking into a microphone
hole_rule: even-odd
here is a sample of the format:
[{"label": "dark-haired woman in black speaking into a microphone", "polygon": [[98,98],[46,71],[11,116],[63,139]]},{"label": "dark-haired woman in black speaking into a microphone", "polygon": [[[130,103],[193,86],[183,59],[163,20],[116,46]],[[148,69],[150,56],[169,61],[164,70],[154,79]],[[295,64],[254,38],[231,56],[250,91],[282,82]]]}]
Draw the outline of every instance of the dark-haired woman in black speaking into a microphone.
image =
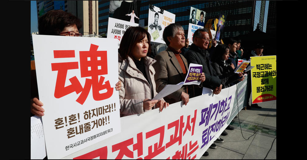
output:
[{"label": "dark-haired woman in black speaking into a microphone", "polygon": [[215,53],[212,55],[212,67],[222,80],[222,89],[230,87],[230,83],[236,80],[244,80],[243,72],[234,73],[235,66],[228,62],[230,48],[227,45],[219,44],[216,46]]}]

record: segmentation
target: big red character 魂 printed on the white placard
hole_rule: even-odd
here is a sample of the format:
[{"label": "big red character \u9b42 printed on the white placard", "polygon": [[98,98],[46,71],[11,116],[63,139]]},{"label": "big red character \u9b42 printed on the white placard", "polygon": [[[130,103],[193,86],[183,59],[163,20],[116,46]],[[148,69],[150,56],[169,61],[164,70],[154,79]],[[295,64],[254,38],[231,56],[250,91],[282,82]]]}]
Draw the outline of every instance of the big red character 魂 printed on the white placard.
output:
[{"label": "big red character \u9b42 printed on the white placard", "polygon": [[[107,69],[107,51],[97,51],[98,45],[91,44],[89,51],[80,51],[80,74],[81,78],[86,78],[84,87],[81,86],[76,76],[69,79],[71,85],[65,87],[65,80],[67,71],[69,69],[79,69],[78,62],[64,62],[64,63],[51,63],[52,71],[58,71],[56,77],[56,86],[54,90],[54,97],[61,98],[72,92],[80,94],[76,100],[78,103],[83,104],[92,87],[94,100],[105,100],[112,96],[113,88],[111,88],[109,80],[103,81],[105,77],[99,75],[108,74]],[[73,58],[75,57],[74,50],[54,50],[54,58]],[[100,90],[106,89],[107,92],[99,93]]]}]

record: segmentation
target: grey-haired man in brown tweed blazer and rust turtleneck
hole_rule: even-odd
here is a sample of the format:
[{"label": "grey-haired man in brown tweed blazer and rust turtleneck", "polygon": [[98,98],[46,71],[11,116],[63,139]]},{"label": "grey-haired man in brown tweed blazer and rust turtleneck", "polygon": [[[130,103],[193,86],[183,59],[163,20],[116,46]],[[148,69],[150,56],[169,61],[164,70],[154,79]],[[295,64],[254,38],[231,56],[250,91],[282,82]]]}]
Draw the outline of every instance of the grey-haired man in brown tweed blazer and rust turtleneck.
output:
[{"label": "grey-haired man in brown tweed blazer and rust turtleneck", "polygon": [[[185,32],[181,25],[172,23],[165,27],[163,40],[167,48],[155,57],[157,63],[153,64],[156,70],[155,82],[157,92],[160,92],[167,84],[178,84],[185,80],[188,72],[188,62],[181,55],[181,48],[185,46]],[[202,73],[200,80],[204,81],[205,76]],[[172,104],[183,101],[185,105],[189,102],[187,86],[183,85],[179,90],[164,97],[165,101]]]}]

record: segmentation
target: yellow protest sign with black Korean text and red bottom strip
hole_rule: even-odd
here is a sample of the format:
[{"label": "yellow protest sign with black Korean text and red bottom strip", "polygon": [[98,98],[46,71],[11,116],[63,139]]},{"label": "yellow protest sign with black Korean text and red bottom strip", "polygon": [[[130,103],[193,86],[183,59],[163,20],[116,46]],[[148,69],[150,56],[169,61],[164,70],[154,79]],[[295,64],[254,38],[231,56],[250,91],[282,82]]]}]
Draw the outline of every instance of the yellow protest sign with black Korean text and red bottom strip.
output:
[{"label": "yellow protest sign with black Korean text and red bottom strip", "polygon": [[252,103],[276,100],[276,56],[251,57]]}]

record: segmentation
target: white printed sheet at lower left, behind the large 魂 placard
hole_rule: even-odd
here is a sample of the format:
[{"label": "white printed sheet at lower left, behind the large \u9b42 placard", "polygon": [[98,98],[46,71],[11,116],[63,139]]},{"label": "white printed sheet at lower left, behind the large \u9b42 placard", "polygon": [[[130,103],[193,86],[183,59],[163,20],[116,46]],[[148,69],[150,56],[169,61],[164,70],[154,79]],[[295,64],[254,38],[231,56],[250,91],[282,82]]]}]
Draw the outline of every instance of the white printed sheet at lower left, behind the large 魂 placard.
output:
[{"label": "white printed sheet at lower left, behind the large \u9b42 placard", "polygon": [[46,157],[45,136],[41,117],[31,117],[31,159]]}]

